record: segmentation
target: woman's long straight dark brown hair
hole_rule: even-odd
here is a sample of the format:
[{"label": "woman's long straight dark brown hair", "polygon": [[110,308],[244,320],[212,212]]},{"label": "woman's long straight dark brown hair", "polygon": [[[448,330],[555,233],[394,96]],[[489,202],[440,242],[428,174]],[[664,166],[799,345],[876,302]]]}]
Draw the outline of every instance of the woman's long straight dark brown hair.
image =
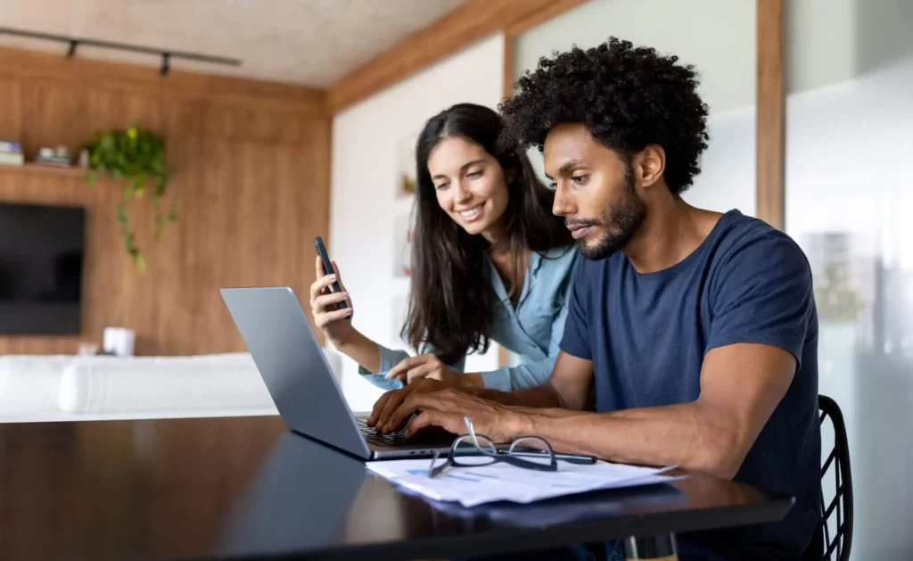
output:
[{"label": "woman's long straight dark brown hair", "polygon": [[572,244],[561,217],[551,214],[554,192],[542,185],[523,153],[498,150],[502,122],[497,112],[470,103],[455,105],[425,123],[415,150],[415,235],[412,250],[412,294],[403,335],[416,350],[432,344],[445,364],[470,351],[488,350],[495,295],[488,282],[482,236],[470,235],[437,204],[428,172],[428,156],[437,143],[462,137],[498,160],[508,185],[504,211],[507,234],[498,251],[513,263],[509,290],[521,290],[527,249],[547,251]]}]

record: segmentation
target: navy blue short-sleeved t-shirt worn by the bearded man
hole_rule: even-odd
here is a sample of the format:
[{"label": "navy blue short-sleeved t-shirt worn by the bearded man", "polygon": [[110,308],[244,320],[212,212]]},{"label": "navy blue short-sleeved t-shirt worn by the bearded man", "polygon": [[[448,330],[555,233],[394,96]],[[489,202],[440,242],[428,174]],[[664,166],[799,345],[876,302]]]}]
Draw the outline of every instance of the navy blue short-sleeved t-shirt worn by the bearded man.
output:
[{"label": "navy blue short-sleeved t-shirt worn by the bearded man", "polygon": [[792,353],[792,385],[735,481],[796,498],[785,520],[681,535],[736,559],[798,557],[818,523],[818,320],[812,273],[791,238],[732,210],[676,265],[639,273],[622,252],[577,264],[561,350],[593,361],[599,411],[687,403],[710,349]]}]

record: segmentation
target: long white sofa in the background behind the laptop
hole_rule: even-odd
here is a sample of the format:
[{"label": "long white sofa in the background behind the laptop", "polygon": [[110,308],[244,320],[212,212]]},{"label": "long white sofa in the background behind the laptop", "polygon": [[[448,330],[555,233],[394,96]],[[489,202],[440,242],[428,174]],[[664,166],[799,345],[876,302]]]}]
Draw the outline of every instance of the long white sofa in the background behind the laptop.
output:
[{"label": "long white sofa in the background behind the laptop", "polygon": [[[341,359],[325,351],[341,384]],[[247,353],[0,356],[0,422],[276,415]]]}]

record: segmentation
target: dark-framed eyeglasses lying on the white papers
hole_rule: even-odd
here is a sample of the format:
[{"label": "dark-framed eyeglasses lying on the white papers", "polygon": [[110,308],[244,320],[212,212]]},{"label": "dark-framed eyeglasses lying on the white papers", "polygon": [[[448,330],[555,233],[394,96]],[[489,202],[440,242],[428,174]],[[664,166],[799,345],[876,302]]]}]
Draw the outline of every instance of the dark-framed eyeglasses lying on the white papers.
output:
[{"label": "dark-framed eyeglasses lying on the white papers", "polygon": [[[489,465],[498,461],[505,461],[518,468],[538,471],[558,471],[558,457],[551,444],[540,437],[521,437],[510,444],[507,451],[498,451],[495,443],[488,437],[477,435],[472,427],[472,420],[464,417],[468,433],[457,437],[446,460],[441,465],[436,465],[440,453],[435,452],[431,465],[428,467],[428,477],[436,477],[450,466],[471,468]],[[595,460],[590,456],[571,456],[561,454],[561,460],[571,463],[589,464]]]}]

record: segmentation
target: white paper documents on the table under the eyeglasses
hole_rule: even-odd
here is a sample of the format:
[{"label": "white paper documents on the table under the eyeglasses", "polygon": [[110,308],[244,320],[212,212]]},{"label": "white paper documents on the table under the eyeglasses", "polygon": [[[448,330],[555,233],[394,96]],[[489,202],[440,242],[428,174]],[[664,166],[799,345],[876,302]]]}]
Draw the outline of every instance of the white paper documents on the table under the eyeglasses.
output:
[{"label": "white paper documents on the table under the eyeglasses", "polygon": [[[441,460],[443,461],[443,459]],[[563,495],[620,487],[674,482],[683,477],[664,475],[676,468],[643,468],[597,461],[592,465],[558,462],[558,471],[536,471],[498,462],[485,466],[449,467],[434,478],[427,476],[431,460],[370,461],[370,471],[435,501],[463,506],[509,501],[532,503]]]}]

